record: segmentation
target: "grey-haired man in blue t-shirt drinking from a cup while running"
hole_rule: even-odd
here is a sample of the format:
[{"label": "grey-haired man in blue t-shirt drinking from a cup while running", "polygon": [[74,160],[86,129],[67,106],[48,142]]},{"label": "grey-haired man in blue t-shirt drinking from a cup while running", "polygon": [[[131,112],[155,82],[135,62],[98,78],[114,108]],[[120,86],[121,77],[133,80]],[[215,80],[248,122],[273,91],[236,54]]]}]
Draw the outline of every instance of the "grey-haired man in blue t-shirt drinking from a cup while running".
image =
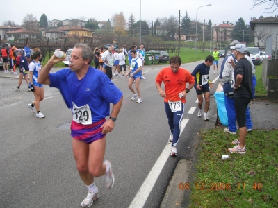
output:
[{"label": "grey-haired man in blue t-shirt drinking from a cup while running", "polygon": [[[106,133],[114,128],[122,105],[122,92],[106,76],[93,67],[92,49],[76,44],[70,58],[70,69],[49,73],[54,64],[63,59],[52,56],[40,72],[39,83],[57,87],[65,104],[72,110],[72,149],[81,180],[88,187],[82,207],[90,207],[99,198],[94,178],[104,175],[106,189],[114,184],[111,163],[104,160]],[[110,103],[113,103],[110,118]]]}]

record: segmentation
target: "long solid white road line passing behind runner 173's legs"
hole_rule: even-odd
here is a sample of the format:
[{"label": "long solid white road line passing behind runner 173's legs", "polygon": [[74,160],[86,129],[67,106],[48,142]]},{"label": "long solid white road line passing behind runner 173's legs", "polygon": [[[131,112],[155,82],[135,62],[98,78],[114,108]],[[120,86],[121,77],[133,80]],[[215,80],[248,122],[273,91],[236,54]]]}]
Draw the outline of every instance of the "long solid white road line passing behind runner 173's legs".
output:
[{"label": "long solid white road line passing behind runner 173's legs", "polygon": [[[188,123],[188,121],[189,121],[188,119],[183,119],[181,121],[181,132],[183,132],[183,129],[186,128],[186,124]],[[165,165],[167,159],[170,156],[170,149],[171,149],[171,144],[167,143],[161,155],[158,157],[156,163],[152,167],[152,170],[149,171],[149,174],[147,175],[145,181],[141,185],[136,196],[133,198],[131,204],[129,205],[129,208],[144,207],[145,202],[149,196],[149,193],[151,193],[152,188],[154,187],[154,184],[156,183],[156,180],[163,169],[163,166]]]}]

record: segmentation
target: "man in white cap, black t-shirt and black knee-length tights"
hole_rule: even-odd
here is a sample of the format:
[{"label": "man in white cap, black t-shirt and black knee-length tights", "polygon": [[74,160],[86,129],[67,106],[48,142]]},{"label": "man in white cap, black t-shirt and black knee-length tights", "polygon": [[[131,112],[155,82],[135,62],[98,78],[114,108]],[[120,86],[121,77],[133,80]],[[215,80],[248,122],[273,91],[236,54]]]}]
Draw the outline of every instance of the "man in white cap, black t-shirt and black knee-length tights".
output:
[{"label": "man in white cap, black t-shirt and black knee-length tights", "polygon": [[234,46],[233,54],[237,62],[231,59],[231,66],[234,67],[234,106],[236,110],[236,121],[238,121],[239,138],[235,139],[232,144],[236,144],[234,148],[229,148],[230,153],[245,154],[245,138],[247,128],[245,125],[245,112],[247,105],[252,99],[252,65],[245,58],[245,44],[237,44]]}]

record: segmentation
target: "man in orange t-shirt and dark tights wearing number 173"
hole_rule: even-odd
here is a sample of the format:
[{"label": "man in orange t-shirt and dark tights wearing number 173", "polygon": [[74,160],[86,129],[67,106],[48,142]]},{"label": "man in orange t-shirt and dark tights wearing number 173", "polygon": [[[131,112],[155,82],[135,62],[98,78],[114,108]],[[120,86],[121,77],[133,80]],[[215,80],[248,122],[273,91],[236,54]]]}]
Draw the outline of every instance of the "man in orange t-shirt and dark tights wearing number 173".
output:
[{"label": "man in orange t-shirt and dark tights wearing number 173", "polygon": [[[170,67],[161,69],[157,74],[156,88],[159,95],[164,98],[165,112],[170,127],[169,141],[172,142],[170,155],[176,156],[186,94],[193,88],[195,80],[189,71],[180,68],[181,58],[178,55],[170,58],[169,63]],[[165,91],[161,89],[162,82],[165,85]],[[189,83],[188,87],[186,87],[187,83]]]}]

